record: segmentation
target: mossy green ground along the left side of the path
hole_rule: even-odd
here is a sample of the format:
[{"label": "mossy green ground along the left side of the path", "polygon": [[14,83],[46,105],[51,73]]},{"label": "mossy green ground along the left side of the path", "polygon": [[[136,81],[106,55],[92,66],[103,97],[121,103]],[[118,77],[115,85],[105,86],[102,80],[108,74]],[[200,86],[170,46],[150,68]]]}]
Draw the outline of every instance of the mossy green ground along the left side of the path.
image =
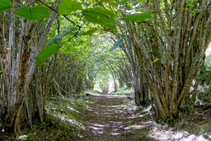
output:
[{"label": "mossy green ground along the left side of the path", "polygon": [[0,140],[73,140],[84,136],[82,124],[85,100],[62,99],[58,97],[46,100],[45,121],[34,124],[30,129],[22,127],[20,136],[5,133]]}]

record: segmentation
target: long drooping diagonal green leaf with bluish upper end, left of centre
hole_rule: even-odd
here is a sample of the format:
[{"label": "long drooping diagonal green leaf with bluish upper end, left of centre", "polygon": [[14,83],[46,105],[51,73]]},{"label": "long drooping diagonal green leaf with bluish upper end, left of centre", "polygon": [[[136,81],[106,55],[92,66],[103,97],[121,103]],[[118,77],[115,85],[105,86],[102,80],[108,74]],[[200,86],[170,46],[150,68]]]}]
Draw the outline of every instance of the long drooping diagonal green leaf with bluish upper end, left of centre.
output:
[{"label": "long drooping diagonal green leaf with bluish upper end, left of centre", "polygon": [[67,34],[71,33],[72,29],[66,30],[63,33],[53,37],[45,47],[40,51],[40,53],[35,58],[37,66],[42,66],[43,63],[54,53],[56,53],[61,47],[61,39]]}]

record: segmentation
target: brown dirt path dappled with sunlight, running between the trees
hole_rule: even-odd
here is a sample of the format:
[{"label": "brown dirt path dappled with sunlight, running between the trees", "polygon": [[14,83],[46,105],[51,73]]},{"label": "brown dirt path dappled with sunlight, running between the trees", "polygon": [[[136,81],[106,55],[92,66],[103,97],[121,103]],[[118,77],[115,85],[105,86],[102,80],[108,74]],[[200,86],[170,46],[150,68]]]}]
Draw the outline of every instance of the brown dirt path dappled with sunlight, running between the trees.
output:
[{"label": "brown dirt path dappled with sunlight, running between the trees", "polygon": [[[135,105],[121,95],[98,94],[87,101],[84,126],[86,141],[147,141],[152,122],[148,112],[135,110]],[[140,113],[142,112],[142,114]],[[152,120],[151,120],[152,121]]]}]

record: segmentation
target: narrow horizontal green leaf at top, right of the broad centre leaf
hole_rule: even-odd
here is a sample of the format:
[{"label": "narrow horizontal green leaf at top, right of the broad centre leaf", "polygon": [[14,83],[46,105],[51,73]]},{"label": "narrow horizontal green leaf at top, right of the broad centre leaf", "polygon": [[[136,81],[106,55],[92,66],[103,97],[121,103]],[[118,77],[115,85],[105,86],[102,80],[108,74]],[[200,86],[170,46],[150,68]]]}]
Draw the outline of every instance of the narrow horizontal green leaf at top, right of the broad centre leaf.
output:
[{"label": "narrow horizontal green leaf at top, right of the broad centre leaf", "polygon": [[146,19],[151,18],[152,14],[151,13],[141,13],[141,14],[131,14],[128,16],[125,16],[124,18],[121,18],[120,20],[125,20],[125,21],[143,21]]}]

